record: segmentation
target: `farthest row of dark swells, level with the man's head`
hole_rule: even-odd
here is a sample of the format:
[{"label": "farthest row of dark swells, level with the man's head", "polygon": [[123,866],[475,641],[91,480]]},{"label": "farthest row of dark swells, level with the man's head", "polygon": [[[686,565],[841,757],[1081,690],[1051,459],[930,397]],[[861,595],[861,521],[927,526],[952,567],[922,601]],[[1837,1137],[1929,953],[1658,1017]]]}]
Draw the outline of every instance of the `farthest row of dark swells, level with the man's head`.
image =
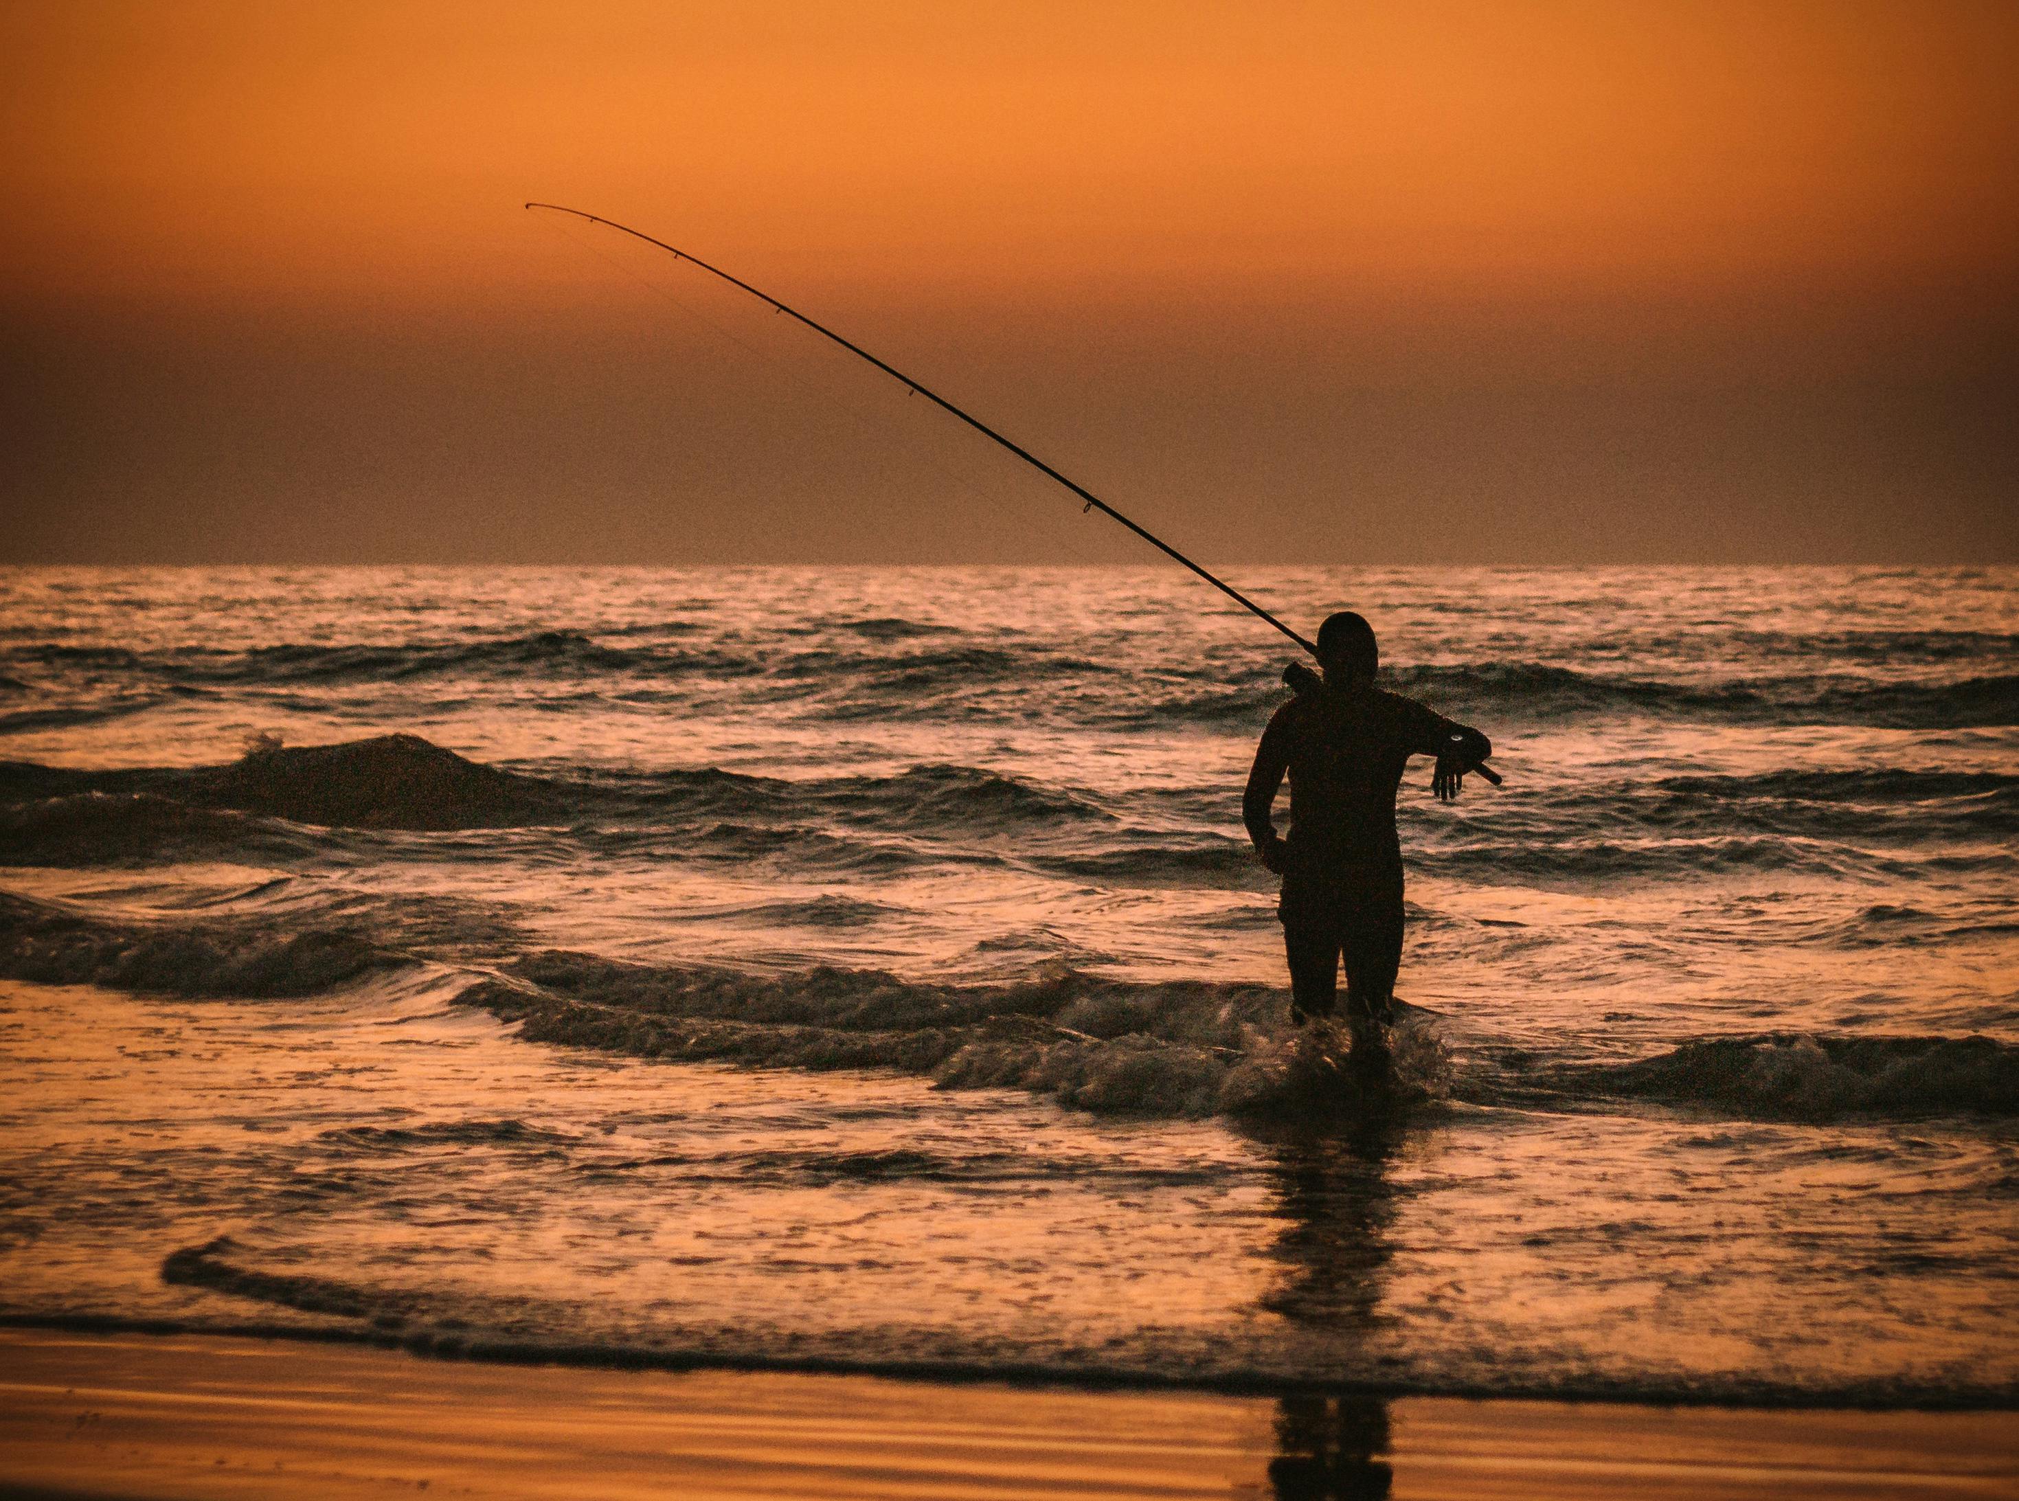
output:
[{"label": "farthest row of dark swells, level with the man's head", "polygon": [[[913,622],[854,620],[798,630],[783,642],[695,644],[684,632],[598,640],[571,630],[434,642],[271,644],[248,651],[24,644],[0,653],[55,679],[69,673],[123,681],[121,701],[162,691],[275,691],[430,683],[479,691],[487,683],[549,683],[630,699],[666,691],[727,703],[789,701],[814,719],[1016,719],[1042,717],[1112,727],[1252,727],[1284,701],[1280,663],[1207,655],[1195,663],[1102,661],[1022,638],[963,638]],[[1767,632],[1773,636],[1773,632]],[[2019,723],[2013,638],[1985,632],[1866,632],[1817,636],[1811,661],[1791,669],[1763,642],[1748,657],[1684,679],[1559,667],[1538,661],[1401,665],[1383,675],[1399,693],[1458,717],[1575,721],[1660,715],[1736,723],[1843,723],[1962,729]],[[814,640],[810,640],[814,638]],[[1779,640],[1779,636],[1775,636]],[[1795,653],[1799,642],[1793,638]],[[818,644],[816,644],[818,642]],[[1872,677],[1859,665],[1920,667],[1924,677]],[[1979,665],[1985,671],[1954,677]],[[1736,669],[1736,671],[1734,671]],[[1748,671],[1750,669],[1750,671]],[[1845,671],[1853,669],[1853,671]],[[20,709],[113,713],[115,709]],[[63,721],[52,721],[63,723]],[[34,719],[22,721],[32,727]],[[0,729],[6,725],[0,723]]]}]

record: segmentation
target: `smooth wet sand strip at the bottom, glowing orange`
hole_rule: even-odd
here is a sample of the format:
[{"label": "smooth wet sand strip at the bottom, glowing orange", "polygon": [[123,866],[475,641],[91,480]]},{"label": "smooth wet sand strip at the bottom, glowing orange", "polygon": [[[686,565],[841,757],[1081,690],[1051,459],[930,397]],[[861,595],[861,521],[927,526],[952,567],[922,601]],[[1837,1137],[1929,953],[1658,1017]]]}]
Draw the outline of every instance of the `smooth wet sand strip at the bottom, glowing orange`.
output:
[{"label": "smooth wet sand strip at the bottom, glowing orange", "polygon": [[0,1331],[0,1497],[1993,1497],[2011,1412],[1078,1392]]}]

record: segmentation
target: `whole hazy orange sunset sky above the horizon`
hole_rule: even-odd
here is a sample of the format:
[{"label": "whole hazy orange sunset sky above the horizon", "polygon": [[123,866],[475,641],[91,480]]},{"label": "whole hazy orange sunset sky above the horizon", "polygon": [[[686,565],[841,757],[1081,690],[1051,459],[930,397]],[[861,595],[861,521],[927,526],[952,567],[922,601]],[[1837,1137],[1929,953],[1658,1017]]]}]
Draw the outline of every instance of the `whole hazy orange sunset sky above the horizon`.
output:
[{"label": "whole hazy orange sunset sky above the horizon", "polygon": [[0,560],[2019,560],[2019,8],[0,10]]}]

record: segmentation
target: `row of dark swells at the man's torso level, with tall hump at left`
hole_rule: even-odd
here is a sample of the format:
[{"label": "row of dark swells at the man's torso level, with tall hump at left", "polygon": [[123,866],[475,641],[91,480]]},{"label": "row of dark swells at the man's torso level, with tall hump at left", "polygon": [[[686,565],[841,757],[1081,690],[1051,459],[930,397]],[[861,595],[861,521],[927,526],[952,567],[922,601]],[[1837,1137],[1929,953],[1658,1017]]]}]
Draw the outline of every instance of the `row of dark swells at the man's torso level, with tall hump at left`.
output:
[{"label": "row of dark swells at the man's torso level, with tall hump at left", "polygon": [[[1411,869],[1458,879],[1678,879],[1817,871],[1918,879],[2019,867],[2019,776],[1908,768],[1670,776],[1468,804],[1409,820]],[[283,747],[228,766],[91,772],[0,764],[0,863],[184,859],[763,861],[806,873],[1005,867],[1110,887],[1266,885],[1236,790],[1094,798],[973,766],[785,780],[717,768],[511,772],[416,735]],[[374,830],[521,828],[513,844]],[[854,919],[866,919],[854,913]],[[836,913],[812,921],[842,921]]]}]

